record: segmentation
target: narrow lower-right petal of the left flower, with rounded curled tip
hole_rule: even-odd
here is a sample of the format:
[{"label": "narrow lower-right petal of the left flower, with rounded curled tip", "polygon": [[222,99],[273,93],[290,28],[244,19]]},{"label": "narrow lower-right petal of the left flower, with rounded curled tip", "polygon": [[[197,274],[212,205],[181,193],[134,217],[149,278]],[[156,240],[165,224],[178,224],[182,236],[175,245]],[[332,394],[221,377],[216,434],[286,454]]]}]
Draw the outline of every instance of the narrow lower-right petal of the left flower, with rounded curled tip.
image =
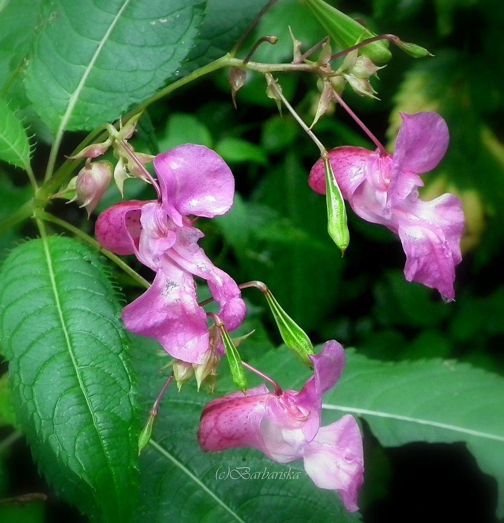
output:
[{"label": "narrow lower-right petal of the left flower, with rounded curled tip", "polygon": [[203,236],[199,229],[184,225],[177,230],[177,241],[169,256],[180,267],[207,280],[215,301],[219,303],[219,316],[228,331],[236,329],[245,317],[245,302],[236,282],[226,272],[216,267],[198,245]]}]

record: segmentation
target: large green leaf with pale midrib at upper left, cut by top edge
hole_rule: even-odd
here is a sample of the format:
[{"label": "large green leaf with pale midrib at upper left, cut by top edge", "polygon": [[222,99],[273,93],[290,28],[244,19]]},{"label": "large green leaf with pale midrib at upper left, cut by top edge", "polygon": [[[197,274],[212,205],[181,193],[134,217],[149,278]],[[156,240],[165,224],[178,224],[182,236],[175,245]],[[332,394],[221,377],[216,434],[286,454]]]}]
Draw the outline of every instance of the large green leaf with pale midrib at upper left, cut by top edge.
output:
[{"label": "large green leaf with pale midrib at upper left, cut by top edge", "polygon": [[203,7],[201,0],[48,0],[27,69],[29,98],[58,133],[114,120],[177,71]]}]

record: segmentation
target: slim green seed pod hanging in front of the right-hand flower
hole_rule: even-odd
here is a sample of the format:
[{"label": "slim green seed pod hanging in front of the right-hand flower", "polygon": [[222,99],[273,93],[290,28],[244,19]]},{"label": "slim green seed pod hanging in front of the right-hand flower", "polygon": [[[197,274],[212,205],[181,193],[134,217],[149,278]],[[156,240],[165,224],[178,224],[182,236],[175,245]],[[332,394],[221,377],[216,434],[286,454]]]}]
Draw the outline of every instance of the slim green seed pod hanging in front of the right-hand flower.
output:
[{"label": "slim green seed pod hanging in front of the right-hand flower", "polygon": [[329,158],[323,158],[323,162],[326,175],[327,231],[343,255],[350,243],[350,234],[346,225],[345,202],[336,178],[334,178]]}]

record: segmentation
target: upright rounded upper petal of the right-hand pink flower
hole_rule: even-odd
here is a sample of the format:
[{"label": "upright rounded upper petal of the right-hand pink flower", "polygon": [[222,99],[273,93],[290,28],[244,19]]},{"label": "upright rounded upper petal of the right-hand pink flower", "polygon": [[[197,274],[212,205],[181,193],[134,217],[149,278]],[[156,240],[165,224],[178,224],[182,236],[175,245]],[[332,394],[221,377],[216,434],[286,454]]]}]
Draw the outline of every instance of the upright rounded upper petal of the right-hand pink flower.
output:
[{"label": "upright rounded upper petal of the right-hand pink flower", "polygon": [[404,200],[415,186],[422,186],[418,174],[428,173],[441,162],[450,141],[444,119],[436,112],[400,113],[394,164],[388,188],[391,206]]}]

